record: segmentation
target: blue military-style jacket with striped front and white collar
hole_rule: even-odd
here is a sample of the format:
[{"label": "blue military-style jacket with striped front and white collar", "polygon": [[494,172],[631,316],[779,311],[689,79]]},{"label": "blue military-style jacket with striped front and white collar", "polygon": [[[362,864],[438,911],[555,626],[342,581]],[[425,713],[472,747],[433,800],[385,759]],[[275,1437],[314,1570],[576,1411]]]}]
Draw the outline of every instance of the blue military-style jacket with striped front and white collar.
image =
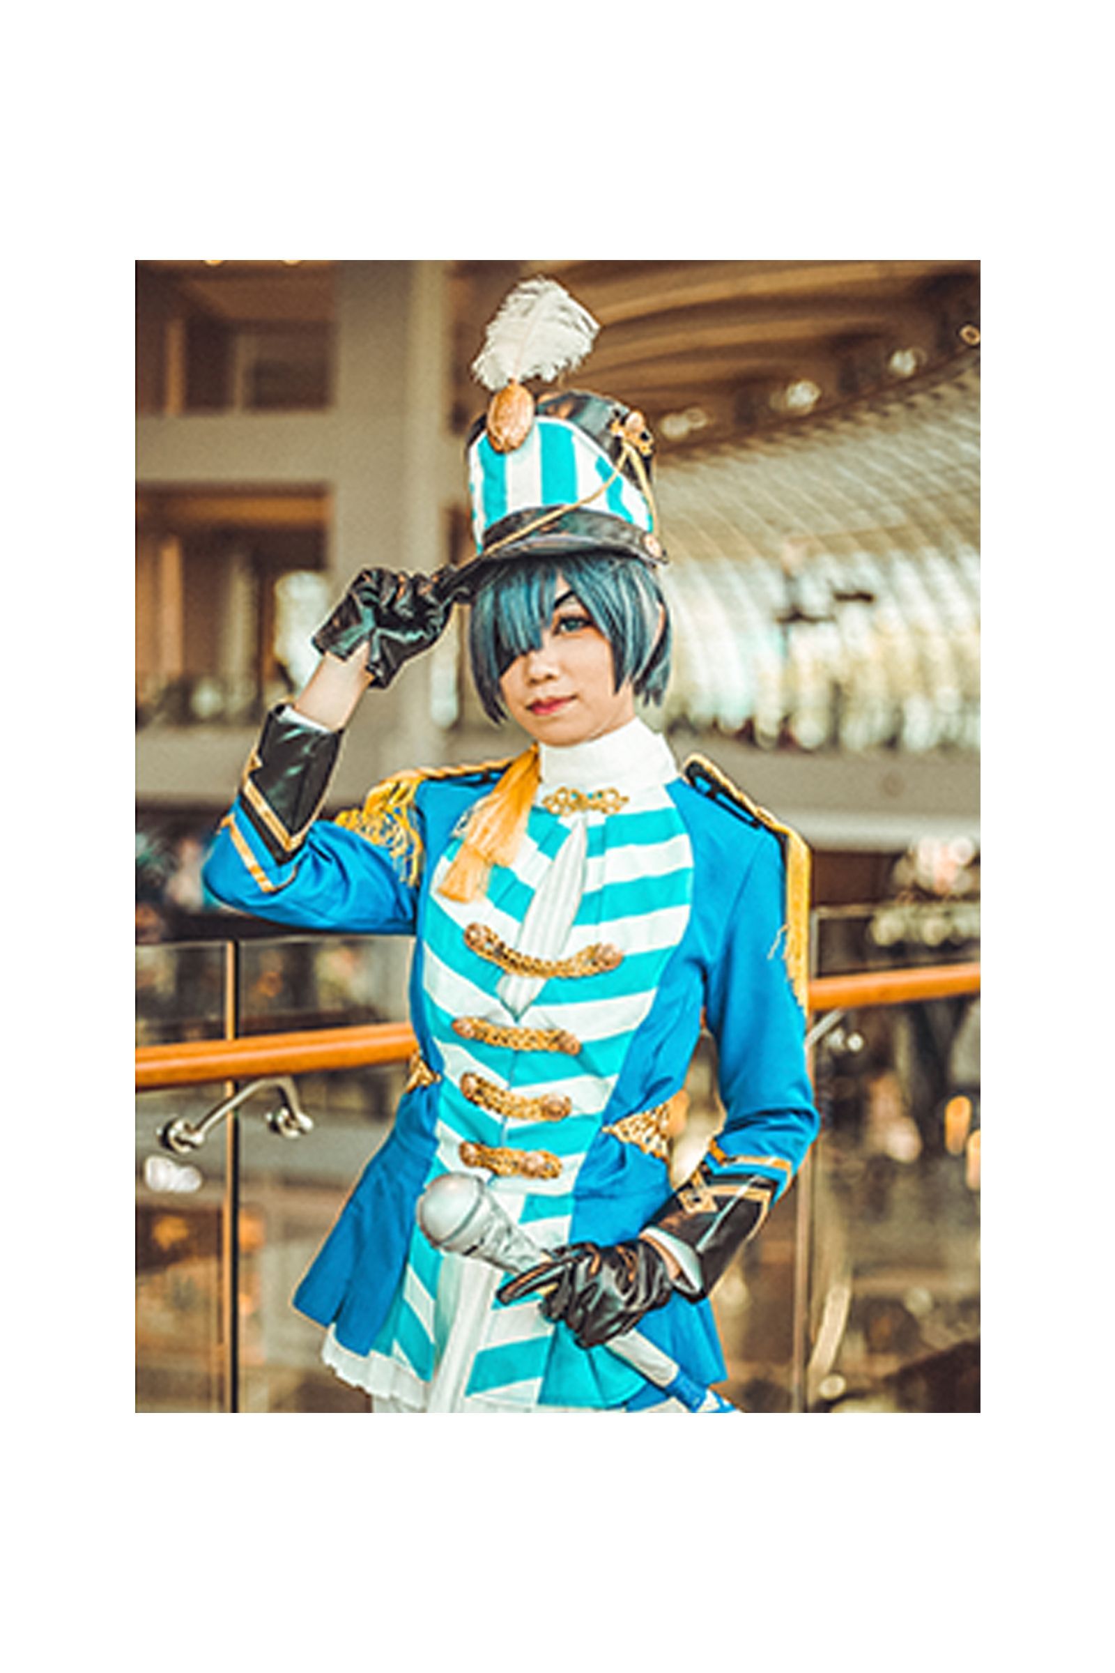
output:
[{"label": "blue military-style jacket with striped front and white collar", "polygon": [[[338,823],[284,801],[256,755],[206,868],[212,893],[244,912],[415,939],[421,1062],[294,1303],[328,1327],[341,1375],[416,1409],[465,1328],[448,1270],[458,1256],[415,1223],[431,1178],[475,1171],[545,1248],[635,1236],[672,1190],[664,1106],[702,1026],[726,1113],[705,1176],[757,1173],[781,1195],[817,1129],[784,960],[777,830],[715,776],[679,773],[642,721],[540,756],[518,853],[480,898],[438,885],[498,766],[401,780],[369,798],[386,815]],[[451,1409],[652,1399],[635,1370],[607,1347],[580,1348],[537,1300],[505,1308],[488,1293],[468,1310]],[[674,1297],[640,1328],[699,1382],[724,1377],[707,1302]]]}]

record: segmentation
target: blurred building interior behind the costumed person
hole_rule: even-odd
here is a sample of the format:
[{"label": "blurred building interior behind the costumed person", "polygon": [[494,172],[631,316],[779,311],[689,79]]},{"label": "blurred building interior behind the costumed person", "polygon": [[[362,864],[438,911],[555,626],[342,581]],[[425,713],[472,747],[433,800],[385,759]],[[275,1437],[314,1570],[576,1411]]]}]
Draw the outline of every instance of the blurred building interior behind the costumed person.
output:
[{"label": "blurred building interior behind the costumed person", "polygon": [[[227,259],[137,263],[137,1409],[366,1410],[289,1293],[405,1064],[167,1133],[252,1084],[191,1077],[201,1042],[401,1022],[408,949],[279,937],[201,865],[349,577],[470,547],[468,366],[532,273],[600,321],[570,381],[657,438],[675,659],[647,718],[811,843],[814,977],[876,982],[811,1019],[822,1138],[717,1290],[724,1392],[978,1410],[978,263]],[[361,708],[326,815],[395,768],[520,748],[461,644]],[[909,972],[929,997],[901,999]],[[679,1176],[719,1123],[709,1042],[689,1089]]]}]

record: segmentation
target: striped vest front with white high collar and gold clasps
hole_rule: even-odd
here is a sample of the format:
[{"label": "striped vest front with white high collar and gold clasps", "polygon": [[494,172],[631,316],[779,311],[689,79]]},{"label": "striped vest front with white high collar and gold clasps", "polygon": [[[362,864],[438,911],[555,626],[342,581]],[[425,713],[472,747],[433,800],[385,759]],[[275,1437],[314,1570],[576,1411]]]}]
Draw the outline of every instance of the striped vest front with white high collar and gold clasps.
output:
[{"label": "striped vest front with white high collar and gold clasps", "polygon": [[[421,982],[443,1062],[430,1178],[478,1168],[512,1218],[553,1248],[568,1241],[578,1171],[685,932],[694,858],[665,790],[674,756],[642,721],[542,746],[540,766],[520,852],[483,898],[438,893],[460,836],[441,855]],[[535,1173],[501,1173],[508,1154]],[[639,1387],[607,1348],[585,1352],[555,1330],[535,1300],[498,1305],[500,1280],[415,1230],[364,1387],[428,1410],[600,1407]],[[344,1350],[334,1357],[351,1375]]]}]

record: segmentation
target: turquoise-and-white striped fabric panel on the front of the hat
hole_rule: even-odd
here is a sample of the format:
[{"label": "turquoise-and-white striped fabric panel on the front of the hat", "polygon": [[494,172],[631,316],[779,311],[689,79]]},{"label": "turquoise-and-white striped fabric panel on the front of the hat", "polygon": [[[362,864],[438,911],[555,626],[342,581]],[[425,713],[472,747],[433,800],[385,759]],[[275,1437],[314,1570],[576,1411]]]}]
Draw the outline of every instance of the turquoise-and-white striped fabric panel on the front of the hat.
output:
[{"label": "turquoise-and-white striped fabric panel on the front of the hat", "polygon": [[[485,532],[512,512],[577,505],[595,495],[593,510],[637,529],[650,529],[650,507],[597,443],[563,418],[538,417],[522,447],[498,453],[486,435],[468,452],[468,482],[476,547]],[[603,483],[608,487],[602,490]]]}]

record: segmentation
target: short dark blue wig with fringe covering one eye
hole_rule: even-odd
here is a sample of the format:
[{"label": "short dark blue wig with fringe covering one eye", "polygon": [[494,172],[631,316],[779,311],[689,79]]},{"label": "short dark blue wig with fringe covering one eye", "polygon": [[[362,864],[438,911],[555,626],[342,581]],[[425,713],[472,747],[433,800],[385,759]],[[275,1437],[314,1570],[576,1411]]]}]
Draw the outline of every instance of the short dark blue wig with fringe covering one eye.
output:
[{"label": "short dark blue wig with fringe covering one eye", "polygon": [[[512,663],[537,651],[553,619],[562,576],[593,626],[612,646],[619,691],[629,679],[644,703],[660,703],[670,678],[670,612],[652,569],[632,557],[582,552],[517,559],[493,565],[473,599],[468,651],[485,714],[503,719],[500,679]],[[665,612],[659,632],[659,612]]]}]

